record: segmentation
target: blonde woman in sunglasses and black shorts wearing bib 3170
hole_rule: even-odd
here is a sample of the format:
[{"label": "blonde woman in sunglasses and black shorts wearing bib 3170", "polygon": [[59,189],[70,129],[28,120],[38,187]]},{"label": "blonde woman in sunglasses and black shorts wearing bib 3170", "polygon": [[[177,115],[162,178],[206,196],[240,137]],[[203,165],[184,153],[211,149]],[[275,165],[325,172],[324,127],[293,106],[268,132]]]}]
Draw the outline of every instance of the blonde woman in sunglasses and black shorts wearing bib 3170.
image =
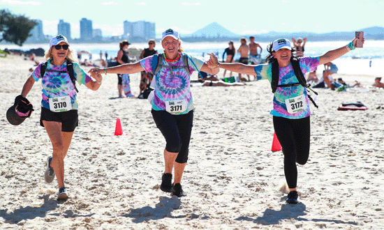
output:
[{"label": "blonde woman in sunglasses and black shorts wearing bib 3170", "polygon": [[64,158],[78,124],[76,91],[67,71],[67,61],[73,64],[73,74],[78,84],[84,84],[96,91],[103,79],[101,75],[94,75],[96,81],[92,80],[75,62],[74,56],[66,37],[54,36],[50,40],[50,49],[45,52],[45,59],[48,61],[44,75],[41,76],[43,63],[40,63],[25,82],[21,94],[27,97],[34,83],[41,79],[43,100],[41,100],[40,125],[45,127],[53,147],[52,156],[47,158],[44,179],[46,183],[52,183],[56,174],[59,184],[58,200],[68,199],[68,192],[64,186]]}]

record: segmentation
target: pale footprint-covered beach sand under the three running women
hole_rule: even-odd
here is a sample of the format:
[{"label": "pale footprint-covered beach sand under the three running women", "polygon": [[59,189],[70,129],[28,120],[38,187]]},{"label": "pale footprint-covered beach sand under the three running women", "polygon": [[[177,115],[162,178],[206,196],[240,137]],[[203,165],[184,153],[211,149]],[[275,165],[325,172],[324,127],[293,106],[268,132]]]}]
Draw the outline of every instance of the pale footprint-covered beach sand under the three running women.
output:
[{"label": "pale footprint-covered beach sand under the three running women", "polygon": [[[267,81],[192,87],[195,118],[182,179],[188,196],[177,198],[159,190],[165,140],[149,103],[117,98],[117,76],[108,75],[98,91],[77,87],[80,126],[65,159],[70,199],[60,203],[57,181],[43,178],[52,145],[39,125],[40,82],[27,96],[31,118],[18,126],[6,120],[31,67],[21,57],[0,59],[0,229],[384,229],[383,90],[317,89],[309,161],[298,166],[300,203],[290,205],[281,191],[282,152],[270,151]],[[139,78],[131,75],[135,95]],[[348,101],[368,109],[337,110]],[[125,135],[114,136],[117,118]]]}]

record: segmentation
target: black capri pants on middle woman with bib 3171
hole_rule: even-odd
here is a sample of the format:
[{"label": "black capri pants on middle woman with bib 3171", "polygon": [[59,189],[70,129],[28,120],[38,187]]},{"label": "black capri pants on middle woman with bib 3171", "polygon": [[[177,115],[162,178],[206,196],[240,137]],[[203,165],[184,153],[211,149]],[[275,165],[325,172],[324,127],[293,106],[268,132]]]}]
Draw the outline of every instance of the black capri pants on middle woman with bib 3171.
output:
[{"label": "black capri pants on middle woman with bib 3171", "polygon": [[179,153],[175,162],[186,163],[193,126],[193,110],[188,114],[172,115],[163,110],[152,109],[152,116],[167,142],[165,150],[170,153]]}]

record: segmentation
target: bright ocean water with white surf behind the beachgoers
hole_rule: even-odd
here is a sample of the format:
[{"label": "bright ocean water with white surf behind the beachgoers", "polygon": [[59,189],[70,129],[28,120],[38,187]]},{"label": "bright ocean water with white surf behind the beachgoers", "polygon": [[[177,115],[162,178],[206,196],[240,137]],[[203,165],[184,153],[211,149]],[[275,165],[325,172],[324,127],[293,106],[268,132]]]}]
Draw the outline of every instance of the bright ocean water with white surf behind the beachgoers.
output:
[{"label": "bright ocean water with white surf behind the beachgoers", "polygon": [[[257,42],[257,41],[256,41]],[[305,45],[305,56],[320,56],[331,49],[337,49],[348,44],[350,41],[333,41],[333,42],[311,42],[310,40]],[[267,56],[267,45],[269,43],[259,43],[263,47],[261,53],[262,58]],[[235,48],[239,48],[239,41],[234,41]],[[117,56],[119,51],[118,43],[106,43],[106,44],[93,44],[93,43],[79,43],[71,45],[73,49],[87,50],[92,53],[92,60],[100,59],[100,52],[103,52],[103,59],[105,58],[104,53],[108,52],[108,59]],[[27,51],[29,49],[36,48],[47,49],[48,45],[42,44],[27,44],[19,47],[17,45],[0,45],[1,49],[22,49]],[[147,43],[135,43],[130,45],[143,49],[148,47]],[[182,47],[187,54],[196,56],[200,59],[207,60],[209,56],[207,53],[214,53],[219,56],[219,61],[222,59],[224,49],[228,47],[228,43],[182,43]],[[156,44],[155,49],[158,52],[163,52],[160,43]],[[88,55],[87,55],[88,56]],[[87,58],[87,56],[85,58]],[[83,58],[84,59],[84,58]],[[238,54],[235,55],[235,59],[239,59]],[[371,67],[369,62],[371,61]],[[378,75],[384,76],[384,40],[367,40],[364,43],[364,48],[357,48],[351,52],[348,52],[341,58],[333,61],[339,68],[339,73],[343,74],[358,74],[358,75]],[[323,72],[323,67],[318,67],[319,72]]]}]

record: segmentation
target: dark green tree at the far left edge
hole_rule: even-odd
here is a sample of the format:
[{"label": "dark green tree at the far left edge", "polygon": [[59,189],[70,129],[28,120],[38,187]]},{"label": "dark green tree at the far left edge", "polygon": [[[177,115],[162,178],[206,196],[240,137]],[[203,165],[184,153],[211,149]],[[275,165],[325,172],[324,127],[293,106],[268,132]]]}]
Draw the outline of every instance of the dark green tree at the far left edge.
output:
[{"label": "dark green tree at the far left edge", "polygon": [[0,42],[6,40],[10,43],[22,46],[27,40],[29,32],[34,29],[37,22],[24,15],[13,15],[8,10],[0,10]]}]

